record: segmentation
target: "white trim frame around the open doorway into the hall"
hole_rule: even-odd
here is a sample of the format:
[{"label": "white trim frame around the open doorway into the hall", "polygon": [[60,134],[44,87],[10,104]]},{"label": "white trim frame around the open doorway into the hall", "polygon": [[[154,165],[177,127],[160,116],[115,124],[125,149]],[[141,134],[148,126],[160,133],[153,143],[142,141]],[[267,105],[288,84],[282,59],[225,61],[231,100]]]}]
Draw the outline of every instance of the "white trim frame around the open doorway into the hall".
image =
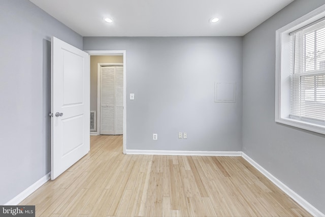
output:
[{"label": "white trim frame around the open doorway into the hall", "polygon": [[[126,50],[84,50],[90,56],[123,55],[123,153],[126,153]],[[97,102],[98,104],[98,102]],[[98,109],[98,108],[97,108]],[[99,116],[99,115],[98,115]]]}]

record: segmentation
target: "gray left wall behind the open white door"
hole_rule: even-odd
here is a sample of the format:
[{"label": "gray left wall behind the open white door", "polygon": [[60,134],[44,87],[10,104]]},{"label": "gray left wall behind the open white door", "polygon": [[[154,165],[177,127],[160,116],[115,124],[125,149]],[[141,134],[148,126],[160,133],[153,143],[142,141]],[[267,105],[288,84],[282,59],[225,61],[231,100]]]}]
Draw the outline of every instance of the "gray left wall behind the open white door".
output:
[{"label": "gray left wall behind the open white door", "polygon": [[0,204],[50,172],[50,37],[82,37],[27,0],[0,1]]}]

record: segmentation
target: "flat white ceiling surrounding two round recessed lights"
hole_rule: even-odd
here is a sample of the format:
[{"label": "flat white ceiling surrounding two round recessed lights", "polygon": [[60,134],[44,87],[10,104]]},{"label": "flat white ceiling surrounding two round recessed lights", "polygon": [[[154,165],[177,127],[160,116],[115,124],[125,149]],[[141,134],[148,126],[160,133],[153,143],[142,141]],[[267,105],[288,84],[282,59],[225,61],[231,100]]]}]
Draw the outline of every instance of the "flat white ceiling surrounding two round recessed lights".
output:
[{"label": "flat white ceiling surrounding two round recessed lights", "polygon": [[29,1],[81,36],[243,36],[294,0]]}]

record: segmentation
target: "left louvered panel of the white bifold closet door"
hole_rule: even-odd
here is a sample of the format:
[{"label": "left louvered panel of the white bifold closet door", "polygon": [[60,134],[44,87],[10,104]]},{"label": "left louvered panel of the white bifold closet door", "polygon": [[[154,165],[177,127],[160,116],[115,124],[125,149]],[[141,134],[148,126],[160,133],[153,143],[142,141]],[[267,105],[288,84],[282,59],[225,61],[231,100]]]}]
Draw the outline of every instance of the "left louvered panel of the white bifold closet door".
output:
[{"label": "left louvered panel of the white bifold closet door", "polygon": [[114,135],[115,67],[101,68],[101,130],[100,134]]}]

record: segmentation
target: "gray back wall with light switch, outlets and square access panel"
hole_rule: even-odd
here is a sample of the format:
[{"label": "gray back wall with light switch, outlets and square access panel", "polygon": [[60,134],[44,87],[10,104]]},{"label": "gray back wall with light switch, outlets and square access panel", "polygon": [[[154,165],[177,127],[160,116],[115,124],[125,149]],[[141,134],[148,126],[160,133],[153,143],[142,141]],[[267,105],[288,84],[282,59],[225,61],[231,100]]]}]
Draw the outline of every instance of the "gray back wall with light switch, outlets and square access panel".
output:
[{"label": "gray back wall with light switch, outlets and square access panel", "polygon": [[[84,37],[83,47],[126,50],[126,94],[135,94],[126,149],[242,150],[242,37]],[[236,81],[237,102],[214,103],[214,81]]]}]

